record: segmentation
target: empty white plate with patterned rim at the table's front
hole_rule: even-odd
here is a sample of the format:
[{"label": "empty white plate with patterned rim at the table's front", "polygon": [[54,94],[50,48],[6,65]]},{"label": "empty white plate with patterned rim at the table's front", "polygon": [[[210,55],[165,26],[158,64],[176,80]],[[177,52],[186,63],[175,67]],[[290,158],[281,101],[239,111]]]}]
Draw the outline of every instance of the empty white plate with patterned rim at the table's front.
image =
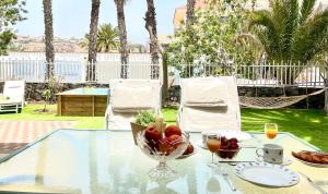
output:
[{"label": "empty white plate with patterned rim at the table's front", "polygon": [[289,168],[267,162],[238,163],[235,173],[246,181],[270,187],[292,186],[300,181],[298,174]]}]

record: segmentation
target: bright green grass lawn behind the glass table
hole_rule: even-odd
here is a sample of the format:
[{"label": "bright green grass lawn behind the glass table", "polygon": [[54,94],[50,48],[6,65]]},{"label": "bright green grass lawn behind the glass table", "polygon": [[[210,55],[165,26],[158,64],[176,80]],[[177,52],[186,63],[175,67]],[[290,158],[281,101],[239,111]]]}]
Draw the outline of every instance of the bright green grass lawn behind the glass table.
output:
[{"label": "bright green grass lawn behind the glass table", "polygon": [[[104,129],[104,117],[57,117],[56,113],[36,113],[43,105],[28,105],[20,114],[0,114],[0,120],[69,120],[77,121],[75,129]],[[49,106],[54,111],[56,106]],[[163,108],[165,121],[175,123],[176,107]],[[328,151],[328,117],[321,110],[256,110],[242,109],[243,130],[262,131],[263,124],[273,122],[279,130],[296,136]]]}]

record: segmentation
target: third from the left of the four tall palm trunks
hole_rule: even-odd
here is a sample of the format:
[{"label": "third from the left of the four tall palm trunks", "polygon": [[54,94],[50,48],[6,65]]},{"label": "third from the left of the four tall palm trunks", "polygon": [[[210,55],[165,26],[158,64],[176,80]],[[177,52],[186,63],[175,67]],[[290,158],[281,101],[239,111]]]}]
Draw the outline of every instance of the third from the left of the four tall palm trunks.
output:
[{"label": "third from the left of the four tall palm trunks", "polygon": [[128,49],[128,38],[126,29],[126,19],[125,19],[125,3],[127,0],[114,0],[117,11],[117,24],[119,31],[119,41],[120,41],[120,62],[121,62],[121,77],[127,78],[127,64],[129,62],[129,49]]}]

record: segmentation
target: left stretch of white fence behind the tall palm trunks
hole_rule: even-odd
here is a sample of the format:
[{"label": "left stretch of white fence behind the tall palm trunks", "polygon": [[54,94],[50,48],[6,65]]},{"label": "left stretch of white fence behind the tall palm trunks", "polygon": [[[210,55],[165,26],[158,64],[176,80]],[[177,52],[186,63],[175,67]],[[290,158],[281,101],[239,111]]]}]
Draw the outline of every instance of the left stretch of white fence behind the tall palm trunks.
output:
[{"label": "left stretch of white fence behind the tall palm trunks", "polygon": [[[97,63],[91,74],[86,76],[86,53],[56,53],[54,63],[55,76],[63,83],[97,82],[107,84],[109,80],[119,78],[121,74],[119,53],[98,53]],[[129,78],[154,78],[159,76],[152,72],[151,57],[149,53],[131,53],[127,68]],[[43,52],[11,52],[0,57],[0,81],[24,80],[30,83],[45,81],[46,60]]]}]

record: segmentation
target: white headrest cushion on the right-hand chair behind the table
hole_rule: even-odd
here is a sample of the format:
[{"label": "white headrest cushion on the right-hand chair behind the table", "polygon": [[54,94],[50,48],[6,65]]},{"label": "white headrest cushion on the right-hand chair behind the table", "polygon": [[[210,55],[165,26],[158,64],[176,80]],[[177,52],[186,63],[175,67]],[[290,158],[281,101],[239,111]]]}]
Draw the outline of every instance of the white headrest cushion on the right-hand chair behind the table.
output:
[{"label": "white headrest cushion on the right-hand chair behind the table", "polygon": [[224,105],[227,87],[218,78],[185,78],[181,81],[181,100],[186,105]]}]

